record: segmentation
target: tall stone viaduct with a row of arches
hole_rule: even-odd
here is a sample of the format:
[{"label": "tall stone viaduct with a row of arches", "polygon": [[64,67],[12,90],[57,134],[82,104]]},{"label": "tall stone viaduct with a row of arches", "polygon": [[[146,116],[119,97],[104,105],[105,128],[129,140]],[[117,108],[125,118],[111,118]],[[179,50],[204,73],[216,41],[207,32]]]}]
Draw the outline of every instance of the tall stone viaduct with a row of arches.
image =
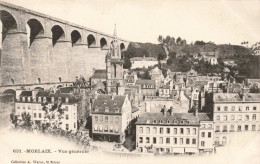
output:
[{"label": "tall stone viaduct with a row of arches", "polygon": [[[5,2],[0,16],[0,88],[72,82],[88,79],[93,68],[105,69],[112,35]],[[122,51],[129,45],[118,41]]]}]

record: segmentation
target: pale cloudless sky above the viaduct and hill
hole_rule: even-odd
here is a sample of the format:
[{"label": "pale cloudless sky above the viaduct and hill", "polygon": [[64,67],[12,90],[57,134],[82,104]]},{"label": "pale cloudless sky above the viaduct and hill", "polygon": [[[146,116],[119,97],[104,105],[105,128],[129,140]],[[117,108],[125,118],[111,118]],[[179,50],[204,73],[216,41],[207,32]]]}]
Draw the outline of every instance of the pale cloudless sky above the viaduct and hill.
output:
[{"label": "pale cloudless sky above the viaduct and hill", "polygon": [[134,42],[260,41],[260,0],[3,0]]}]

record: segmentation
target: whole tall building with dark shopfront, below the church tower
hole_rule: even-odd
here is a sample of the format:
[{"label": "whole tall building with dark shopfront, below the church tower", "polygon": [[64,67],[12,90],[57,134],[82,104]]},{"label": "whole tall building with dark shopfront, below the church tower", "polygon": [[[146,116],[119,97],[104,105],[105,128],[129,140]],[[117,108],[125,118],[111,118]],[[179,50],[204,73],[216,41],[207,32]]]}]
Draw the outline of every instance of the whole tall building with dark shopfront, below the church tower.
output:
[{"label": "whole tall building with dark shopfront, below the church tower", "polygon": [[128,96],[98,95],[92,110],[92,138],[123,143],[132,115]]}]

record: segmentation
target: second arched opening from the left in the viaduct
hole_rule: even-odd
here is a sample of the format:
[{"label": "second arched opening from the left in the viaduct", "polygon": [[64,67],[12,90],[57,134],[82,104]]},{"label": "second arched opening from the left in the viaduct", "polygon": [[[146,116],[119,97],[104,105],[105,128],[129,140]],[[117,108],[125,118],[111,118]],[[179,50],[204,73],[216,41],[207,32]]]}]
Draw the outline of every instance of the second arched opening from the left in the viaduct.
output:
[{"label": "second arched opening from the left in the viaduct", "polygon": [[43,35],[44,30],[41,22],[37,19],[30,19],[27,21],[27,39],[28,39],[28,47],[30,47],[33,41],[37,38],[37,36]]}]

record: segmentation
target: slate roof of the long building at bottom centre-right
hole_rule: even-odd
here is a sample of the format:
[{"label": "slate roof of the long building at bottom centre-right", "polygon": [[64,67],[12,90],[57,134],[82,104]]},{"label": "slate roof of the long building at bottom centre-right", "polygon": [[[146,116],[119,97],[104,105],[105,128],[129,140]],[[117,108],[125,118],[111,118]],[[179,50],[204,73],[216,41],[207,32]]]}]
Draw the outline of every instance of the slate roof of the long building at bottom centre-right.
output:
[{"label": "slate roof of the long building at bottom centre-right", "polygon": [[162,112],[144,113],[138,118],[136,125],[199,126],[199,119],[193,113],[173,113],[171,115],[167,112],[166,116]]}]

